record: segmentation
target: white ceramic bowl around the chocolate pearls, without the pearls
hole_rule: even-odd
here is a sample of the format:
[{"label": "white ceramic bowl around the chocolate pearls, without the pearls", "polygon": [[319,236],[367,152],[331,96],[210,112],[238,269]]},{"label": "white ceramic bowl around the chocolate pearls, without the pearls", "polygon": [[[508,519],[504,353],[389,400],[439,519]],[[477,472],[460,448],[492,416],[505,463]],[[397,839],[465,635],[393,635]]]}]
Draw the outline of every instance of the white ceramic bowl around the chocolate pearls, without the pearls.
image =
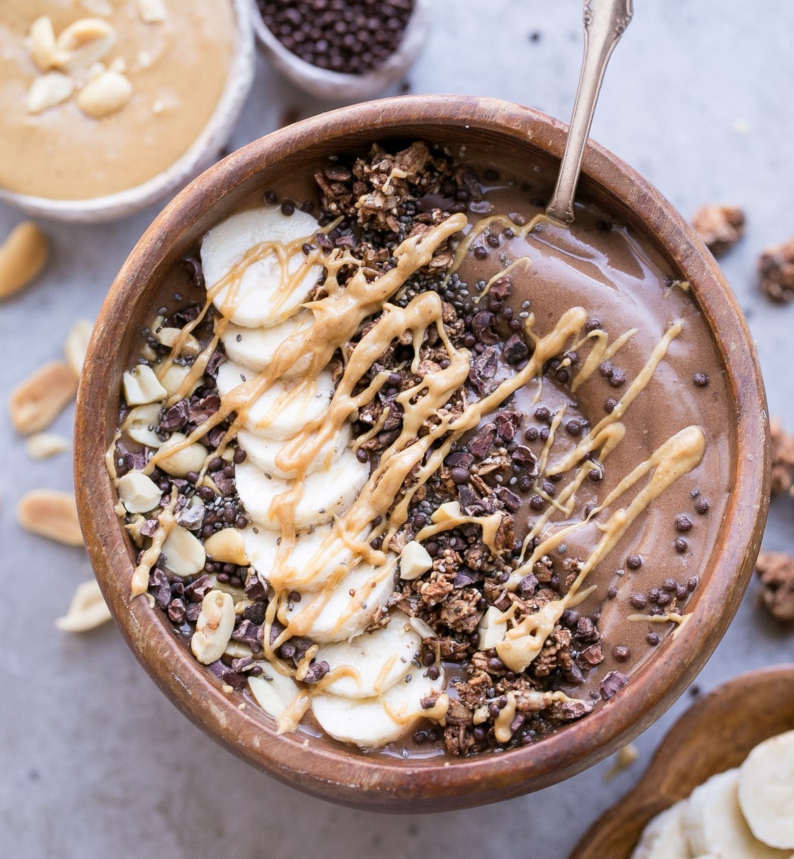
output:
[{"label": "white ceramic bowl around the chocolate pearls, without the pearls", "polygon": [[253,30],[266,58],[297,88],[326,101],[351,103],[381,93],[405,75],[427,38],[430,2],[431,0],[414,0],[411,18],[400,47],[384,64],[363,75],[345,75],[339,71],[321,69],[288,51],[265,26],[256,0],[251,0]]}]

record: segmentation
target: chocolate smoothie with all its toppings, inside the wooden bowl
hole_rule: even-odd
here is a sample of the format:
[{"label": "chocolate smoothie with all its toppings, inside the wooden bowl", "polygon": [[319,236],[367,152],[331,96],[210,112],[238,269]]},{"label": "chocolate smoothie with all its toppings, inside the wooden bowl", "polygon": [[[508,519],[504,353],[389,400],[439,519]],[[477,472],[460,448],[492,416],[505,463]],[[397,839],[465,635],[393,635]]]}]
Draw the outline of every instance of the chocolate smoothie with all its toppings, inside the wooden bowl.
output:
[{"label": "chocolate smoothie with all its toppings, inside the wooden bowl", "polygon": [[132,593],[280,731],[526,745],[687,622],[731,482],[723,368],[652,243],[549,220],[552,181],[376,146],[168,282],[108,456]]}]

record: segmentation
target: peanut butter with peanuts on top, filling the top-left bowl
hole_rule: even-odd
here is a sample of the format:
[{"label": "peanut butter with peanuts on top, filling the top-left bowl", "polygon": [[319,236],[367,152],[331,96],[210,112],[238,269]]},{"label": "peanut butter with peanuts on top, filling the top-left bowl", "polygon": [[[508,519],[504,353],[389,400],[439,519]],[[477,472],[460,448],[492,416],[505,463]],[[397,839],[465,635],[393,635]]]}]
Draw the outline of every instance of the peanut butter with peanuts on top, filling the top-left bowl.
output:
[{"label": "peanut butter with peanuts on top, filling the top-left bowl", "polygon": [[162,174],[210,122],[238,38],[230,0],[6,0],[0,190],[84,201]]}]

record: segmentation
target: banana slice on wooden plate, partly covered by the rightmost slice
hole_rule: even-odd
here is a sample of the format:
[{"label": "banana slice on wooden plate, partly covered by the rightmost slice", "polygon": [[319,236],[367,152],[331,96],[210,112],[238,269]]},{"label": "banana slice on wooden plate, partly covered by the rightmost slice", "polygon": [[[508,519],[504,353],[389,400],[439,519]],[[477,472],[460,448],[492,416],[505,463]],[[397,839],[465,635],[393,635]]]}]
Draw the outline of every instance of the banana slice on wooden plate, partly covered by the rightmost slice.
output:
[{"label": "banana slice on wooden plate, partly covered by the rightmost slice", "polygon": [[713,776],[687,801],[682,825],[693,856],[713,853],[720,859],[787,859],[788,851],[775,850],[754,837],[742,817],[738,797],[739,771]]}]

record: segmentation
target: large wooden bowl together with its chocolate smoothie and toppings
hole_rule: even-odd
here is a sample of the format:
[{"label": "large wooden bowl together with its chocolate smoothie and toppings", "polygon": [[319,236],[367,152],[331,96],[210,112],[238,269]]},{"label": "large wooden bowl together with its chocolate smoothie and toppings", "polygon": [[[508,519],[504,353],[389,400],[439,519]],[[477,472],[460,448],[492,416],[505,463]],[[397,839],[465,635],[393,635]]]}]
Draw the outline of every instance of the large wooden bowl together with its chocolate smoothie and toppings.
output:
[{"label": "large wooden bowl together with its chocolate smoothie and toppings", "polygon": [[102,308],[76,485],[103,593],[193,722],[325,799],[570,777],[681,694],[751,575],[741,314],[603,149],[547,218],[564,143],[470,97],[307,120],[188,186]]}]

